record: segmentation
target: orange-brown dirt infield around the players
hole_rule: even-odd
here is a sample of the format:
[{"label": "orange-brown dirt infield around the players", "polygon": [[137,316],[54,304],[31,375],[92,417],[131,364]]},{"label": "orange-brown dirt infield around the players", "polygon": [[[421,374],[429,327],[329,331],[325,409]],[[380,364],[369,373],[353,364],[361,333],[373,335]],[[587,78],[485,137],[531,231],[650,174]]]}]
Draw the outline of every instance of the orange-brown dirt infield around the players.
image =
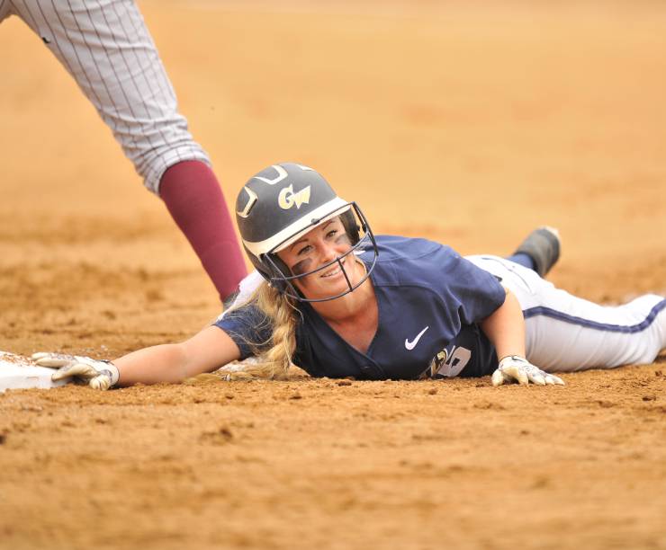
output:
[{"label": "orange-brown dirt infield around the players", "polygon": [[[230,200],[296,160],[376,233],[501,254],[548,223],[556,284],[666,292],[662,3],[139,4]],[[106,358],[209,323],[71,78],[15,18],[0,51],[0,350]],[[664,373],[9,391],[0,548],[666,548]]]}]

